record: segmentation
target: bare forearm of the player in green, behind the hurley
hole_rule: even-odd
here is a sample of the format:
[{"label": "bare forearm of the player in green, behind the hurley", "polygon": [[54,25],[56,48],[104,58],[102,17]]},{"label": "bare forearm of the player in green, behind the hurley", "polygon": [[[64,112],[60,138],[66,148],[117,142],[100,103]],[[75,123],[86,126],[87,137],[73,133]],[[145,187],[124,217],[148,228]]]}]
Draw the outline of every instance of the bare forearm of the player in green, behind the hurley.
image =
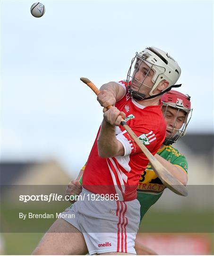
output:
[{"label": "bare forearm of the player in green, behind the hurley", "polygon": [[188,175],[181,170],[181,168],[172,165],[170,162],[165,160],[162,156],[155,154],[154,157],[182,184],[186,185],[188,182]]}]

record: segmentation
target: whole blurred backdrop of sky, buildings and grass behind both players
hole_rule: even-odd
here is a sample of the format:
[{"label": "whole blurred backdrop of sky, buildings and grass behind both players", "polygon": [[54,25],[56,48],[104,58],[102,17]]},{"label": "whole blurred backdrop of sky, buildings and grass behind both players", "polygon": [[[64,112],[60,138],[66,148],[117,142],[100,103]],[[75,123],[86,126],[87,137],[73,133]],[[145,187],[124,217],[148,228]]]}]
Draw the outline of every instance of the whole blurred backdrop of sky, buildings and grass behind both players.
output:
[{"label": "whole blurred backdrop of sky, buildings and grass behind both players", "polygon": [[213,2],[45,0],[41,18],[31,15],[33,3],[0,2],[1,254],[31,254],[54,221],[31,221],[29,229],[16,222],[20,185],[65,191],[87,160],[103,113],[79,78],[97,87],[126,79],[147,46],[180,64],[178,91],[191,96],[193,115],[175,145],[188,160],[189,195],[166,190],[146,213],[140,241],[159,254],[213,254]]}]

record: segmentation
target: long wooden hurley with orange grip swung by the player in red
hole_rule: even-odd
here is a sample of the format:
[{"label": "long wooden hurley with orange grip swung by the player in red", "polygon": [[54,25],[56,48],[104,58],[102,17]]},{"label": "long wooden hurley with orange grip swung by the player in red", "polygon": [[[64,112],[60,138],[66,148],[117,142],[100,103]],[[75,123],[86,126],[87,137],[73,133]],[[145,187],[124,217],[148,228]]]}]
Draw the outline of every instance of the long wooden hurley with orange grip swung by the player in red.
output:
[{"label": "long wooden hurley with orange grip swung by the player in red", "polygon": [[[84,77],[81,77],[80,80],[86,83],[96,93],[96,95],[98,95],[100,91],[99,89],[97,89],[93,82]],[[109,106],[108,109],[110,109],[111,107],[112,106]],[[176,194],[187,196],[188,192],[186,187],[179,180],[177,180],[169,171],[167,171],[167,169],[154,157],[154,155],[151,154],[146,146],[144,146],[144,144],[139,140],[137,135],[127,125],[124,119],[122,119],[120,124],[124,127],[125,130],[127,130],[129,135],[133,138],[133,140],[140,147],[142,152],[146,155],[154,169],[155,174],[161,179],[163,184]]]}]

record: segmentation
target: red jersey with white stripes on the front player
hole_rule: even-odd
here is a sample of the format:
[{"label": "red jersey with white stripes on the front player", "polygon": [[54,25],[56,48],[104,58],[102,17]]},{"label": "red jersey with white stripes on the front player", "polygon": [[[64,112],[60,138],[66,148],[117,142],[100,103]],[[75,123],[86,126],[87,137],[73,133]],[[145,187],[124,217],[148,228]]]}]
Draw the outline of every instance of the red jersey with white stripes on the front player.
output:
[{"label": "red jersey with white stripes on the front player", "polygon": [[[144,107],[126,94],[126,82],[121,81],[119,84],[126,91],[124,97],[116,102],[115,107],[126,113],[125,121],[128,126],[155,155],[166,134],[161,101],[158,106]],[[124,147],[124,155],[101,158],[97,147],[99,132],[100,128],[83,173],[83,187],[96,194],[118,194],[120,201],[136,199],[137,184],[141,173],[148,165],[148,159],[121,125],[116,127],[116,137]]]}]

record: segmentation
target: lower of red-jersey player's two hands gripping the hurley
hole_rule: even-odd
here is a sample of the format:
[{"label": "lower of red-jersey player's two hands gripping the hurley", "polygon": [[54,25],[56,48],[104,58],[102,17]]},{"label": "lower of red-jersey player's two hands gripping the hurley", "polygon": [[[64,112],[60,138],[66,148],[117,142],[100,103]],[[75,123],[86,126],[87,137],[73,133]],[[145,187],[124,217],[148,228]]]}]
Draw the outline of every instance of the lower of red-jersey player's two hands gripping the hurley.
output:
[{"label": "lower of red-jersey player's two hands gripping the hurley", "polygon": [[110,123],[111,125],[119,126],[122,121],[122,118],[126,118],[126,114],[118,110],[116,107],[112,107],[111,109],[104,112],[103,118],[106,122]]}]

